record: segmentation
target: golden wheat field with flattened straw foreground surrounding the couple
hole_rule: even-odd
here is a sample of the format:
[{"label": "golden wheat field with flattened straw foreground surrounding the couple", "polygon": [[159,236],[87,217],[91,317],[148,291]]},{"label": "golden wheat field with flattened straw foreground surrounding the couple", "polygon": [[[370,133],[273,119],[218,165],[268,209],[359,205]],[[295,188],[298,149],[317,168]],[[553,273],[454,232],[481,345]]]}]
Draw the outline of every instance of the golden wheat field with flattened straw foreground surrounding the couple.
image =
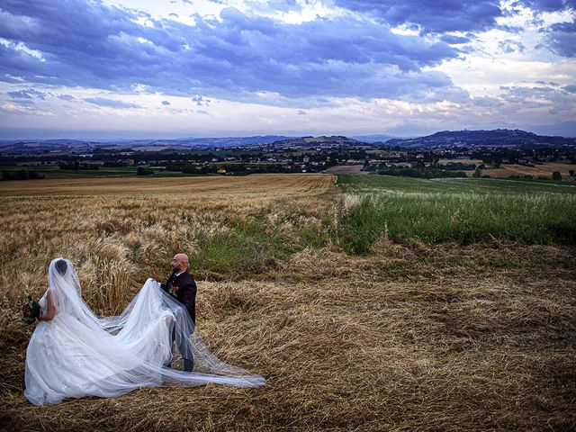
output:
[{"label": "golden wheat field with flattened straw foreground surrounding the couple", "polygon": [[[576,247],[382,238],[353,257],[330,234],[344,202],[332,175],[0,184],[0,430],[576,428]],[[23,398],[21,306],[52,258],[109,315],[175,252],[195,263],[203,340],[265,386]]]}]

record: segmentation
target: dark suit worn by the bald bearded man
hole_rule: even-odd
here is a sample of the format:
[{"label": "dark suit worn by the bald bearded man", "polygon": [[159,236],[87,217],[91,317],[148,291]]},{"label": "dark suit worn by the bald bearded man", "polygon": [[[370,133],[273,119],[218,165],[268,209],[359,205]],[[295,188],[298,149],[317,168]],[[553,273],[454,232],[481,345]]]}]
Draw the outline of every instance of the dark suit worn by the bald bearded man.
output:
[{"label": "dark suit worn by the bald bearded man", "polygon": [[[192,275],[188,273],[187,270],[184,270],[180,275],[175,275],[173,273],[170,275],[166,284],[160,284],[160,287],[166,291],[166,293],[170,294],[170,292],[176,293],[175,299],[178,302],[181,302],[194,326],[196,325],[196,283],[193,280]],[[175,341],[175,332],[172,332],[172,343]],[[176,340],[176,344],[180,344],[178,346],[178,350],[180,354],[184,358],[184,371],[192,372],[193,370],[193,353],[190,352],[189,347],[186,344],[182,344],[178,340]],[[168,365],[171,367],[171,364]]]}]

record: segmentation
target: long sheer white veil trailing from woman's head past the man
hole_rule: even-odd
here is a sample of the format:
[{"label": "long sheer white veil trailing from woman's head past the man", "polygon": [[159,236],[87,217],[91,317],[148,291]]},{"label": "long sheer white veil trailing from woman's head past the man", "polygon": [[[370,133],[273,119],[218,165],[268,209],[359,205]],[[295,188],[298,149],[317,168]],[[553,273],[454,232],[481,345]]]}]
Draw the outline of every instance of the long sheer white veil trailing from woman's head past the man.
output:
[{"label": "long sheer white veil trailing from woman's head past the man", "polygon": [[[227,365],[213,356],[184,306],[161,290],[159,285],[148,279],[120,315],[98,318],[82,299],[72,263],[60,257],[49,265],[47,293],[56,307],[55,320],[65,320],[66,331],[76,332],[76,344],[86,345],[87,361],[105,364],[103,369],[108,378],[104,384],[111,383],[111,394],[117,390],[114,385],[122,386],[126,382],[132,387],[134,384],[160,385],[165,382],[183,385],[223,383],[241,387],[266,383],[261,376]],[[40,302],[46,304],[46,294]],[[193,373],[164,366],[172,360],[172,335],[184,359],[193,360]],[[84,353],[82,347],[71,349]],[[85,367],[93,366],[96,370],[99,367]],[[114,379],[109,379],[110,376]],[[103,395],[106,395],[105,390]]]}]

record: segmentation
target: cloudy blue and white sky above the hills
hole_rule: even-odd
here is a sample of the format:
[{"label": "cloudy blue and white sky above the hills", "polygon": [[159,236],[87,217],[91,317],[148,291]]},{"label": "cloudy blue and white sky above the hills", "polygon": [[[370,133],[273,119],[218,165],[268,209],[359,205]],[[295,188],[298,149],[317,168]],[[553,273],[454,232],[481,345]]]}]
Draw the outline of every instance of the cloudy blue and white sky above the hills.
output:
[{"label": "cloudy blue and white sky above the hills", "polygon": [[3,0],[0,139],[576,136],[576,0]]}]

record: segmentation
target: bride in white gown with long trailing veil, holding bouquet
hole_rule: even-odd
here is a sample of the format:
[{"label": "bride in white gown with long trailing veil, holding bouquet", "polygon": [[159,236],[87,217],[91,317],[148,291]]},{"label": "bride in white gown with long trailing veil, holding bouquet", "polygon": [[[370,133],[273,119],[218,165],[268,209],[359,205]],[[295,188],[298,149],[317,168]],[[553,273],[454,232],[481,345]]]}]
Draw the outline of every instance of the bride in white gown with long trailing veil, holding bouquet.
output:
[{"label": "bride in white gown with long trailing veil, holding bouquet", "polygon": [[[26,350],[24,396],[34,405],[64,398],[112,397],[143,386],[221,383],[256,387],[258,375],[222,363],[195,331],[184,307],[148,279],[119,316],[97,318],[80,295],[72,263],[56,258],[49,265],[48,290]],[[172,334],[190,353],[194,372],[167,365]],[[192,358],[190,359],[192,360]]]}]

